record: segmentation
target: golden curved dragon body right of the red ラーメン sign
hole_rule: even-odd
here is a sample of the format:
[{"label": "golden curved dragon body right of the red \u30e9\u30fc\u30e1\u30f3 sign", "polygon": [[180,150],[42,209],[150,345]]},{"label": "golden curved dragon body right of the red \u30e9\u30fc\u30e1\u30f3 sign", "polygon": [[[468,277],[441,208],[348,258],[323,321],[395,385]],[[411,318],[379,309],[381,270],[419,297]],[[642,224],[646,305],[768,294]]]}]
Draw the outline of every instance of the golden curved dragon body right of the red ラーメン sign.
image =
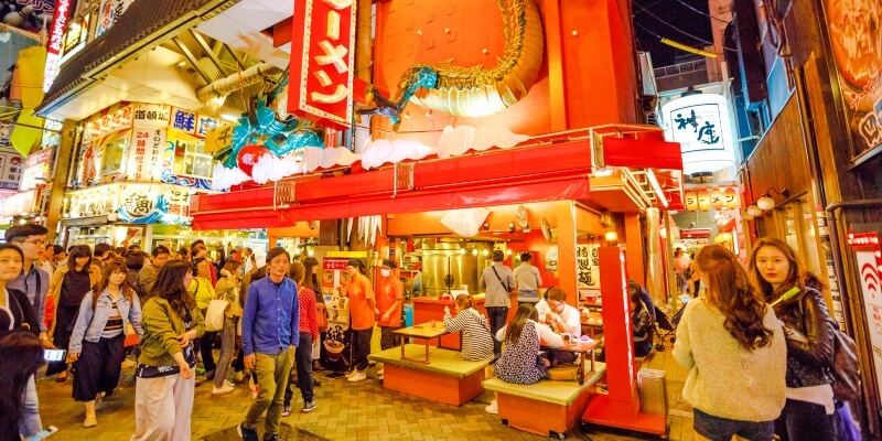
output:
[{"label": "golden curved dragon body right of the red \u30e9\u30fc\u30e1\u30f3 sign", "polygon": [[361,115],[389,118],[398,129],[408,101],[460,117],[497,114],[527,96],[542,62],[542,24],[536,0],[496,0],[503,14],[505,53],[496,67],[484,69],[453,66],[448,60],[437,66],[415,64],[398,82],[395,99],[368,86]]}]

